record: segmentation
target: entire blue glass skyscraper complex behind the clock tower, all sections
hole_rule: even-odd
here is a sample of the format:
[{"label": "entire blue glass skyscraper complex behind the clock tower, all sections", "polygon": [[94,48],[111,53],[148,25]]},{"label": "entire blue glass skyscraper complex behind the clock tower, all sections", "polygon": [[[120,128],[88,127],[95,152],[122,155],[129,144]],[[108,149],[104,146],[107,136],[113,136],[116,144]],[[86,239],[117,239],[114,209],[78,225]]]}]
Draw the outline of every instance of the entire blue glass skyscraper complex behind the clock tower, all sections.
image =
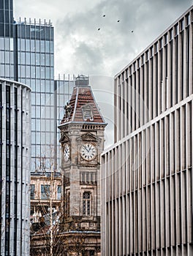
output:
[{"label": "entire blue glass skyscraper complex behind the clock tower, all sections", "polygon": [[74,78],[54,81],[54,29],[41,20],[13,20],[12,0],[0,0],[0,77],[31,87],[31,172],[57,170],[58,124]]}]

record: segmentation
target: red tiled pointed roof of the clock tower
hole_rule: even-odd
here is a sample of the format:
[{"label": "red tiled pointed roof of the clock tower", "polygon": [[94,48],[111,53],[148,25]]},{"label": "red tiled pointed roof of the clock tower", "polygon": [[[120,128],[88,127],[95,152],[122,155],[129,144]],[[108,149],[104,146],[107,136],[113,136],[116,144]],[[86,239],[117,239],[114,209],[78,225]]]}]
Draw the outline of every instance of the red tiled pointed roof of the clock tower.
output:
[{"label": "red tiled pointed roof of the clock tower", "polygon": [[68,122],[88,122],[105,124],[94,99],[91,86],[88,86],[88,77],[80,75],[75,80],[72,97],[64,107],[65,113],[61,124]]}]

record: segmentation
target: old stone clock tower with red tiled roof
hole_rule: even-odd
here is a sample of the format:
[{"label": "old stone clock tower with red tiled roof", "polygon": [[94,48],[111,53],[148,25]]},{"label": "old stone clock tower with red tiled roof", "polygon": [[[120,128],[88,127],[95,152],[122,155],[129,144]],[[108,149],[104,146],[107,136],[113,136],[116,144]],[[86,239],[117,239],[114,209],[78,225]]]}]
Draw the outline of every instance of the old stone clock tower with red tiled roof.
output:
[{"label": "old stone clock tower with red tiled roof", "polygon": [[100,154],[106,123],[80,75],[64,107],[61,130],[61,176],[66,255],[100,255]]}]

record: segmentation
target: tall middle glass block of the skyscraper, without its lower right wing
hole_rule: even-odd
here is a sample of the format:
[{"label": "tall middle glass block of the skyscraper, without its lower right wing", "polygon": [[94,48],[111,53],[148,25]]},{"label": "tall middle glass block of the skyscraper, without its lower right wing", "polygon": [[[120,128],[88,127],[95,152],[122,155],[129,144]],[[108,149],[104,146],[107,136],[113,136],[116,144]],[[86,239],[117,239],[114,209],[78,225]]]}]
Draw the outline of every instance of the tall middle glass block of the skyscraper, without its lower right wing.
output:
[{"label": "tall middle glass block of the skyscraper, without its lower right wing", "polygon": [[[15,23],[15,79],[31,87],[31,171],[53,162],[53,26],[34,20]],[[43,160],[42,160],[43,157]]]}]

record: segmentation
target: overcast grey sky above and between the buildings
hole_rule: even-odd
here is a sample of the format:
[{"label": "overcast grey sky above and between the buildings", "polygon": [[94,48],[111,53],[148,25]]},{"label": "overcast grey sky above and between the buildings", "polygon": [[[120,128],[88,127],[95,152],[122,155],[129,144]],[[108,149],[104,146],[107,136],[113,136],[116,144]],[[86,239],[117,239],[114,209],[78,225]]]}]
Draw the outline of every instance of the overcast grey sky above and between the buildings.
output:
[{"label": "overcast grey sky above and between the buildings", "polygon": [[53,23],[56,77],[90,76],[109,124],[106,145],[113,140],[114,75],[193,4],[193,0],[13,1],[15,20],[41,18]]}]

